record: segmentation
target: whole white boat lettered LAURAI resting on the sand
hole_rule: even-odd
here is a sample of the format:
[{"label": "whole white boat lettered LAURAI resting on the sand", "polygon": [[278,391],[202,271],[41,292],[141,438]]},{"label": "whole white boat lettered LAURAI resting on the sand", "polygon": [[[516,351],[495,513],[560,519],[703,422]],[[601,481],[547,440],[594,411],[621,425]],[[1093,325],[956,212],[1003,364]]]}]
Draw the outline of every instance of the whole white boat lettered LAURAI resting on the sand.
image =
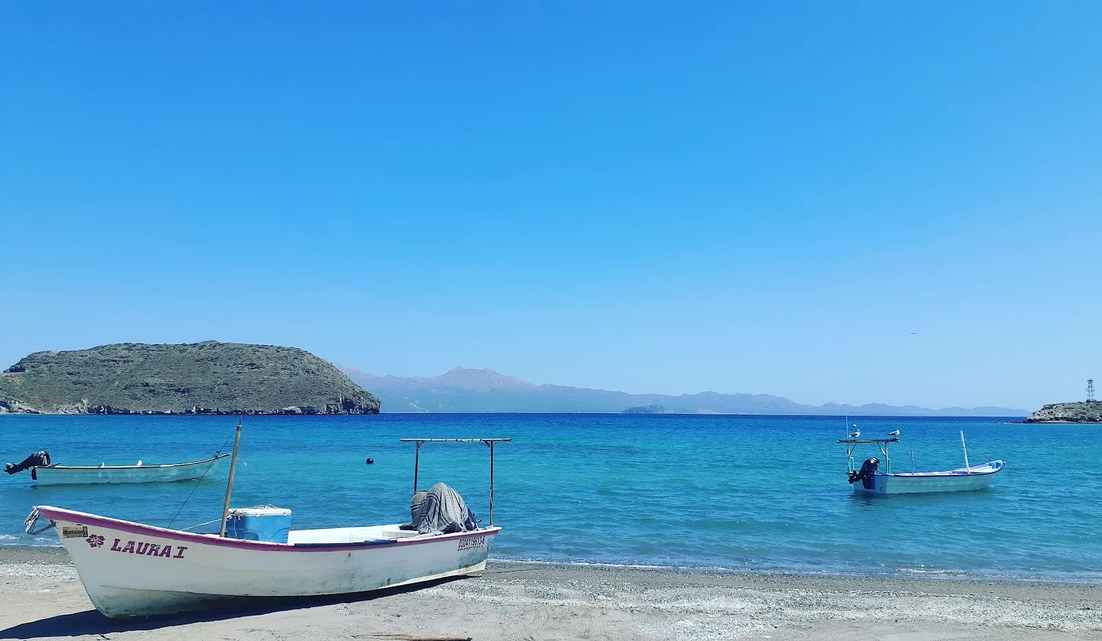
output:
[{"label": "whole white boat lettered LAURAI resting on the sand", "polygon": [[[363,593],[484,569],[490,542],[501,530],[493,524],[493,446],[509,439],[402,441],[414,442],[418,454],[429,442],[488,445],[489,525],[478,525],[447,486],[437,484],[428,492],[417,492],[414,480],[411,512],[428,519],[421,523],[447,523],[443,530],[422,526],[419,531],[417,519],[412,525],[290,530],[290,510],[229,510],[231,465],[219,534],[155,528],[48,506],[35,508],[28,518],[28,531],[34,531],[36,519],[50,520],[93,605],[108,617],[207,609],[230,605],[238,597]],[[464,514],[462,525],[447,520],[456,509]]]}]

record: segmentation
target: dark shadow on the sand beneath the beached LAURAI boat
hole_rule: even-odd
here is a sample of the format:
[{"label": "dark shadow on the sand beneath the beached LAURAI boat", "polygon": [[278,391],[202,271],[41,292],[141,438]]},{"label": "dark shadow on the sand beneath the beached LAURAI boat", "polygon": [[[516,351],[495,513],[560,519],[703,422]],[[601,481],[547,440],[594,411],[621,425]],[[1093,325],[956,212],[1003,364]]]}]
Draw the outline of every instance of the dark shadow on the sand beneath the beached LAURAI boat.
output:
[{"label": "dark shadow on the sand beneath the beached LAURAI boat", "polygon": [[318,608],[334,606],[338,604],[353,604],[360,601],[374,601],[385,599],[407,593],[422,590],[433,587],[463,580],[469,577],[449,577],[436,580],[423,582],[417,585],[402,586],[396,588],[385,588],[368,593],[356,593],[352,595],[333,595],[321,597],[241,597],[226,600],[217,610],[206,610],[198,612],[186,612],[162,617],[136,618],[136,619],[108,619],[99,611],[90,609],[68,615],[56,615],[46,617],[37,621],[18,623],[11,628],[0,630],[0,639],[37,639],[50,637],[80,637],[85,634],[104,635],[111,632],[131,632],[145,630],[162,630],[191,623],[203,623],[209,621],[224,621],[226,619],[237,619],[241,617],[256,617],[272,612],[291,610],[303,610],[307,608]]}]

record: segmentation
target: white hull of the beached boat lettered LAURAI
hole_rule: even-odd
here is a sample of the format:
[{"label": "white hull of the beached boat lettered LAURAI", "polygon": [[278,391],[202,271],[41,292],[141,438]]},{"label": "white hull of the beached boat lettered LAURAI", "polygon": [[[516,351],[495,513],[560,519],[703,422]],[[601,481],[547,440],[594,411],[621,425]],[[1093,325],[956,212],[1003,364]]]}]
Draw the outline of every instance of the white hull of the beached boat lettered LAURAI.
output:
[{"label": "white hull of the beached boat lettered LAURAI", "polygon": [[112,618],[242,597],[344,595],[479,572],[500,528],[408,541],[282,544],[222,539],[40,507],[93,605]]}]

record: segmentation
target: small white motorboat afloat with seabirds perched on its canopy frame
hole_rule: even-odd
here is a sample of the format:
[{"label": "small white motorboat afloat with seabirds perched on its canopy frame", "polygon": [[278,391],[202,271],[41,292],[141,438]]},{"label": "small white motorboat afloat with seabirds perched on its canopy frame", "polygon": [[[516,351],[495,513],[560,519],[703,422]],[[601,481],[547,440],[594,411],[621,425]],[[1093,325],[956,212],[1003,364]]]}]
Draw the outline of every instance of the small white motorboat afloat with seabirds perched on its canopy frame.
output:
[{"label": "small white motorboat afloat with seabirds perched on its canopy frame", "polygon": [[[899,443],[899,438],[895,436],[892,438],[860,438],[861,433],[856,434],[857,437],[851,435],[851,438],[839,441],[846,446],[849,480],[855,495],[919,495],[982,490],[990,488],[995,474],[1006,466],[1003,460],[969,465],[968,445],[964,443],[964,433],[961,432],[964,467],[944,471],[893,472],[888,445]],[[879,448],[884,456],[884,471],[879,471],[880,459],[876,457],[865,459],[860,468],[854,465],[853,453],[858,445],[865,443],[875,444]]]}]

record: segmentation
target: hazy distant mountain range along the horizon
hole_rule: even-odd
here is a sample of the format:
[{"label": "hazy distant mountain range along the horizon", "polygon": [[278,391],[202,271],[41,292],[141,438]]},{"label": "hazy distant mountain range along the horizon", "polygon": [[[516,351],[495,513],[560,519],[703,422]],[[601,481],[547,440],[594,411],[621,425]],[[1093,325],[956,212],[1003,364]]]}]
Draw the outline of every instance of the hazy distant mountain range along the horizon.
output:
[{"label": "hazy distant mountain range along the horizon", "polygon": [[681,414],[806,414],[853,416],[1026,416],[1009,408],[942,408],[914,405],[804,405],[769,394],[629,394],[565,385],[537,385],[491,369],[457,367],[437,377],[375,376],[337,366],[353,381],[382,401],[383,412],[623,412],[661,405]]}]

